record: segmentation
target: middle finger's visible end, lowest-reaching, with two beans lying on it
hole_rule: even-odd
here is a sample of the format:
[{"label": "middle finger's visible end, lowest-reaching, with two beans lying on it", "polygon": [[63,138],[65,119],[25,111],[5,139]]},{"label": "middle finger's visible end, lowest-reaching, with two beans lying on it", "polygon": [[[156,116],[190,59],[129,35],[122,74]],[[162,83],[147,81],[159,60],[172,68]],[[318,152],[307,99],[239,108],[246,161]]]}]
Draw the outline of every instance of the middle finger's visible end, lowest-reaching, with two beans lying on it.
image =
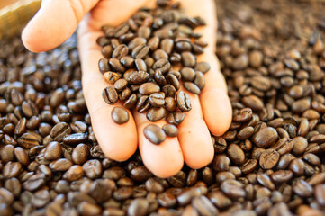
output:
[{"label": "middle finger's visible end, lowest-reaching, with two beans lying on it", "polygon": [[178,139],[176,137],[167,137],[164,142],[159,145],[154,145],[143,134],[144,128],[149,124],[156,124],[162,128],[162,126],[167,124],[167,121],[150,122],[147,120],[145,114],[136,111],[134,112],[134,119],[137,124],[139,150],[143,164],[158,177],[166,178],[176,175],[184,164]]}]

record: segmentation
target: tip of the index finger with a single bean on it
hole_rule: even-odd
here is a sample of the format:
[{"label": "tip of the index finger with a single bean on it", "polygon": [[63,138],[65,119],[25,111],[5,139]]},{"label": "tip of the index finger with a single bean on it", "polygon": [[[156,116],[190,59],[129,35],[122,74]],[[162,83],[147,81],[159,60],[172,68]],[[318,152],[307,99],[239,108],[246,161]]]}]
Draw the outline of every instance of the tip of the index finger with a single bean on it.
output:
[{"label": "tip of the index finger with a single bean on it", "polygon": [[137,150],[138,135],[131,112],[128,111],[129,121],[120,125],[113,122],[112,109],[104,106],[92,113],[92,125],[104,155],[116,161],[125,161]]}]

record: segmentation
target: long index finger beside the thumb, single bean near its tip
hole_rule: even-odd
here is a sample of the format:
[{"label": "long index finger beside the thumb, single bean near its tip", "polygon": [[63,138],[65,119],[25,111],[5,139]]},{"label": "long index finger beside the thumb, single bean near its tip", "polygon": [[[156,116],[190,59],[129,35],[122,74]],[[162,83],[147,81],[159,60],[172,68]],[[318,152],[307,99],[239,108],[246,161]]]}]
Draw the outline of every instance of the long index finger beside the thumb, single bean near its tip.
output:
[{"label": "long index finger beside the thumb, single bean near its tip", "polygon": [[98,70],[98,59],[102,58],[95,40],[99,31],[87,32],[87,23],[80,23],[78,32],[79,53],[82,60],[82,82],[86,105],[92,120],[95,137],[105,156],[123,161],[137,149],[138,136],[131,112],[129,121],[119,125],[113,122],[111,112],[114,106],[104,103],[102,91],[108,86]]}]

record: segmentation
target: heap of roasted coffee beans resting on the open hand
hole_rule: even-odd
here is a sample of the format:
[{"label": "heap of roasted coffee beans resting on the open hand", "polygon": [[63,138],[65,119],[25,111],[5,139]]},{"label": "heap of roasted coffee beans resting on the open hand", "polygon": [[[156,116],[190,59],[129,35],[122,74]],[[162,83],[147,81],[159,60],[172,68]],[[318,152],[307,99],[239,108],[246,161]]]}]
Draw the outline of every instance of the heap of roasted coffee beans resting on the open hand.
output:
[{"label": "heap of roasted coffee beans resting on the open hand", "polygon": [[[97,43],[104,58],[98,67],[104,80],[112,85],[104,88],[103,98],[108,104],[120,101],[127,109],[147,112],[149,121],[166,117],[170,124],[178,125],[184,120],[182,112],[191,110],[189,96],[180,90],[181,82],[189,92],[200,94],[205,85],[203,74],[210,69],[209,63],[196,62],[195,57],[207,44],[194,29],[205,23],[201,17],[186,16],[179,3],[157,1],[157,5],[153,9],[141,8],[117,27],[102,27],[104,36]],[[127,115],[114,112],[113,121],[125,123]],[[181,118],[175,121],[175,115]],[[164,130],[153,125],[144,133],[154,144],[166,138]]]}]

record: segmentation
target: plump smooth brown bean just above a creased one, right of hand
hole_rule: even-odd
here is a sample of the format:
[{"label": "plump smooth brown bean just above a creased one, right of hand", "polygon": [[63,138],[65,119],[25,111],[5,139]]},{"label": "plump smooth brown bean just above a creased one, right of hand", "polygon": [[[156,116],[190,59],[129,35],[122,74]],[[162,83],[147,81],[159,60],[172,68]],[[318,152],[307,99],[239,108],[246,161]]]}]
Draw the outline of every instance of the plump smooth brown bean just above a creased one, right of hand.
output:
[{"label": "plump smooth brown bean just above a creased one, right of hand", "polygon": [[257,131],[253,136],[253,141],[257,147],[266,148],[275,143],[278,138],[278,134],[274,128],[267,127],[265,129]]}]

